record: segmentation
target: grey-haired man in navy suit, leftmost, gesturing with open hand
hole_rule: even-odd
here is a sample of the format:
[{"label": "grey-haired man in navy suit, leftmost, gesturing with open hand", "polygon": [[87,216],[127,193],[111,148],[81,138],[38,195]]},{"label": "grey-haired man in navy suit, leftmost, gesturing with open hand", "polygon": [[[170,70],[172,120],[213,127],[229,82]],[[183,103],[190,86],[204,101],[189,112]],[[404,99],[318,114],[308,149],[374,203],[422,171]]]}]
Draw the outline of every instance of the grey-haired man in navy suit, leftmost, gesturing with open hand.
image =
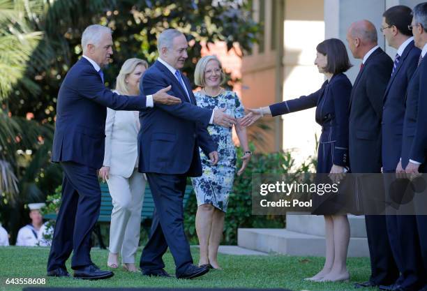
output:
[{"label": "grey-haired man in navy suit, leftmost, gesturing with open hand", "polygon": [[119,96],[105,88],[101,67],[112,55],[111,30],[91,25],[82,34],[83,57],[70,68],[58,94],[52,162],[64,172],[61,207],[57,216],[47,276],[70,276],[66,260],[73,251],[74,276],[101,279],[113,276],[91,261],[90,236],[100,211],[97,170],[103,165],[107,108],[142,110],[153,101],[178,104],[167,89],[153,96]]}]

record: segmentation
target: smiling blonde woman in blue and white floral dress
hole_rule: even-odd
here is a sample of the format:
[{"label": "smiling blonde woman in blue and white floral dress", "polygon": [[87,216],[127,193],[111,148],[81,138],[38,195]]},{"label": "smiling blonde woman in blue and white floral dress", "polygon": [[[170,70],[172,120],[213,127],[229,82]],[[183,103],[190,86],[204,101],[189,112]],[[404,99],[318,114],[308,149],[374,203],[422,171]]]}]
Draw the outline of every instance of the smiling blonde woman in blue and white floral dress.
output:
[{"label": "smiling blonde woman in blue and white floral dress", "polygon": [[[225,110],[237,119],[244,117],[244,107],[233,91],[221,87],[225,80],[220,61],[215,56],[202,57],[195,68],[195,84],[202,91],[195,94],[200,107]],[[200,266],[220,269],[217,260],[218,246],[223,234],[228,196],[232,191],[236,172],[236,149],[232,140],[232,128],[217,125],[208,126],[209,134],[218,144],[219,162],[211,165],[209,157],[200,150],[202,177],[193,178],[193,187],[197,196],[196,232],[200,244]],[[246,128],[235,125],[237,137],[244,149],[243,164],[237,174],[244,172],[252,153],[248,147]]]}]

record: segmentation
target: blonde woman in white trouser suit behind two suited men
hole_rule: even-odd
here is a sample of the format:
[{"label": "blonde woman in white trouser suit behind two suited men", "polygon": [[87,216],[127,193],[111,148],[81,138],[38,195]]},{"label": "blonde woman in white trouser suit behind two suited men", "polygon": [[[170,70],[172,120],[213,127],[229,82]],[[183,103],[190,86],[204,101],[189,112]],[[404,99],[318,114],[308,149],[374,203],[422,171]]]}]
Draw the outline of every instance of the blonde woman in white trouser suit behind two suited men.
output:
[{"label": "blonde woman in white trouser suit behind two suited men", "polygon": [[[121,95],[139,95],[140,79],[148,64],[142,59],[128,59],[117,76],[116,90]],[[140,241],[141,209],[146,178],[137,170],[137,134],[139,112],[107,108],[105,121],[105,156],[100,177],[107,181],[113,210],[110,225],[110,253],[107,265],[137,271],[135,253]]]}]

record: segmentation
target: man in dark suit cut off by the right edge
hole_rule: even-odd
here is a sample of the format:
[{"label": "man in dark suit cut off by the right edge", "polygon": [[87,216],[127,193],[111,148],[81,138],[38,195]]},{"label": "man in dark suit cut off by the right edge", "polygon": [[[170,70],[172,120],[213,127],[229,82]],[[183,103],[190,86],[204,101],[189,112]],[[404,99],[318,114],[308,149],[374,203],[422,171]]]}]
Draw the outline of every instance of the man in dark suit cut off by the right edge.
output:
[{"label": "man in dark suit cut off by the right edge", "polygon": [[[427,172],[427,2],[415,6],[412,14],[410,27],[414,34],[415,45],[421,49],[421,55],[417,70],[407,88],[403,123],[402,167],[407,174],[417,175],[419,172]],[[400,169],[398,170],[401,172]],[[424,288],[421,288],[420,291],[427,291],[427,216],[419,215],[426,213],[426,204],[415,203],[415,207],[419,248],[423,260],[420,271],[421,275],[424,275],[422,277]]]}]

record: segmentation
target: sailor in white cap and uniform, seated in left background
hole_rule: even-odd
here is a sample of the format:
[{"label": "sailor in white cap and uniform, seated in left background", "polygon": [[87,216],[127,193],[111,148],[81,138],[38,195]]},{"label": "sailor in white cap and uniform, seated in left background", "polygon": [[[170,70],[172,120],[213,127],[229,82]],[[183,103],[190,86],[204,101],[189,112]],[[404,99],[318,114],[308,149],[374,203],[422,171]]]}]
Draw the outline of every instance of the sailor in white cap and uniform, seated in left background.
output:
[{"label": "sailor in white cap and uniform, seated in left background", "polygon": [[46,233],[46,227],[43,225],[43,216],[40,214],[40,209],[45,206],[45,203],[30,203],[29,216],[31,223],[20,229],[16,239],[17,246],[49,246],[49,241],[43,239],[43,234]]}]

